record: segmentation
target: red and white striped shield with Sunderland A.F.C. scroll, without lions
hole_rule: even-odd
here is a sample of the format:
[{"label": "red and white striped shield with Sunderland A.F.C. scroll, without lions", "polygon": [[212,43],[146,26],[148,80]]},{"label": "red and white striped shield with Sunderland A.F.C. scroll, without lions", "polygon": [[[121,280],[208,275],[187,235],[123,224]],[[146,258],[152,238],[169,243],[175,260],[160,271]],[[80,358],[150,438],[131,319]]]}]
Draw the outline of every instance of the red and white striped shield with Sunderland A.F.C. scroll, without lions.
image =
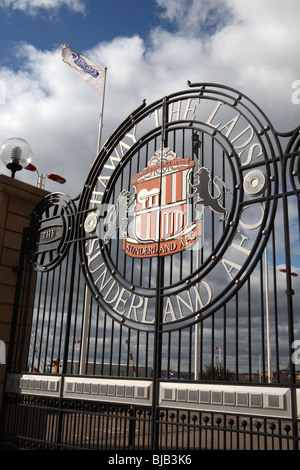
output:
[{"label": "red and white striped shield with Sunderland A.F.C. scroll, without lions", "polygon": [[191,222],[188,179],[194,162],[159,150],[132,180],[136,193],[133,234],[123,241],[129,256],[163,256],[193,244],[201,227]]}]

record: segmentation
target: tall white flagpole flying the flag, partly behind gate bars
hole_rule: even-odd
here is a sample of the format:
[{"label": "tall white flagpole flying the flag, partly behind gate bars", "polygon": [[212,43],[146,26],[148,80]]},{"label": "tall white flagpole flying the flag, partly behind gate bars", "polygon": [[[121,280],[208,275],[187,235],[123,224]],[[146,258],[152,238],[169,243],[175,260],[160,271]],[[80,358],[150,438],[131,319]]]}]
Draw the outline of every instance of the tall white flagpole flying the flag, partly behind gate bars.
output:
[{"label": "tall white flagpole flying the flag, partly behind gate bars", "polygon": [[[103,112],[104,112],[104,99],[105,99],[105,88],[106,88],[106,72],[107,67],[104,69],[104,82],[103,82],[103,94],[102,94],[102,105],[101,105],[101,114],[99,119],[99,132],[98,132],[98,142],[97,142],[97,155],[101,150],[101,140],[102,140],[102,128],[103,128]],[[98,190],[98,181],[95,187],[95,190]],[[93,208],[95,203],[93,203]],[[88,255],[88,266],[89,269],[91,268],[90,262],[90,250]],[[81,341],[81,355],[80,355],[80,363],[79,363],[79,374],[83,375],[84,367],[86,363],[86,350],[87,350],[87,336],[88,336],[88,325],[89,325],[89,309],[91,303],[91,293],[88,286],[85,287],[85,299],[84,299],[84,311],[83,311],[83,325],[82,325],[82,341]]]}]

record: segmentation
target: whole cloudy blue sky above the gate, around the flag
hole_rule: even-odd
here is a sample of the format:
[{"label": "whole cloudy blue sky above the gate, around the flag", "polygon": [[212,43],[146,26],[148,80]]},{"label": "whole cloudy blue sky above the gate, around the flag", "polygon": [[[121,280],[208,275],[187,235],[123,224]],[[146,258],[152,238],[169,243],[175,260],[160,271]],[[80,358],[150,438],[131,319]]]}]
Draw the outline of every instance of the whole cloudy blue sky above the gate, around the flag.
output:
[{"label": "whole cloudy blue sky above the gate, around the flag", "polygon": [[[107,67],[102,144],[144,99],[188,80],[232,86],[290,131],[300,121],[299,17],[298,0],[0,0],[0,145],[25,139],[40,173],[67,180],[46,189],[80,194],[102,95],[62,62],[62,43]],[[36,184],[26,170],[16,177]]]}]

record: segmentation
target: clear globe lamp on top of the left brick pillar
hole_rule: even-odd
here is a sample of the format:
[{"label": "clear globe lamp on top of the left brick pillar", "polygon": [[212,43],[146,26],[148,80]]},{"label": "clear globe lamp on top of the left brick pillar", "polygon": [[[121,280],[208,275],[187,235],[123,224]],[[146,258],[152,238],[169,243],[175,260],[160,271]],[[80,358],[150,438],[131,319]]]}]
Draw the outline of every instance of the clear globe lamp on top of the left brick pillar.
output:
[{"label": "clear globe lamp on top of the left brick pillar", "polygon": [[1,158],[4,165],[11,170],[11,177],[14,178],[17,171],[30,164],[32,150],[26,140],[13,137],[2,144]]}]

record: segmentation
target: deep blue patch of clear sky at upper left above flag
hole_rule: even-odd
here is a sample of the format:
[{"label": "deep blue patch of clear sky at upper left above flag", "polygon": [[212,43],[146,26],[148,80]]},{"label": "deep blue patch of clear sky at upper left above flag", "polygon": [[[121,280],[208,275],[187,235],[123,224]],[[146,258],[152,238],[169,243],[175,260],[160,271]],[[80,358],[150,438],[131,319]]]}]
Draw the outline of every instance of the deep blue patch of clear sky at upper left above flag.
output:
[{"label": "deep blue patch of clear sky at upper left above flag", "polygon": [[138,34],[146,38],[162,22],[162,10],[152,0],[86,0],[78,2],[82,11],[60,3],[59,9],[38,8],[30,13],[27,9],[13,9],[12,5],[1,8],[0,2],[2,65],[14,63],[13,50],[19,41],[43,50],[53,50],[65,42],[81,51],[116,36]]}]

